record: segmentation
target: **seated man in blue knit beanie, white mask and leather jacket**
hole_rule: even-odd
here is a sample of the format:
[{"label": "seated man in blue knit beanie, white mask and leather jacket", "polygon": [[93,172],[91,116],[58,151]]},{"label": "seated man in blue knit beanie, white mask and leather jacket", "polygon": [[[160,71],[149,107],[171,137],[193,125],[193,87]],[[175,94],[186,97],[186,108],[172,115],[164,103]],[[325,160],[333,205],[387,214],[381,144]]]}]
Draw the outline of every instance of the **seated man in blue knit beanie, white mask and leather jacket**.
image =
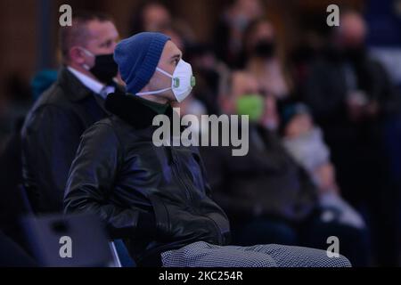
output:
[{"label": "seated man in blue knit beanie, white mask and leather jacket", "polygon": [[114,59],[127,94],[110,94],[106,108],[113,115],[82,136],[64,198],[67,213],[100,216],[141,266],[349,265],[312,248],[228,246],[229,222],[211,199],[198,149],[152,142],[153,118],[172,118],[170,103],[191,93],[191,65],[159,33],[121,41]]}]

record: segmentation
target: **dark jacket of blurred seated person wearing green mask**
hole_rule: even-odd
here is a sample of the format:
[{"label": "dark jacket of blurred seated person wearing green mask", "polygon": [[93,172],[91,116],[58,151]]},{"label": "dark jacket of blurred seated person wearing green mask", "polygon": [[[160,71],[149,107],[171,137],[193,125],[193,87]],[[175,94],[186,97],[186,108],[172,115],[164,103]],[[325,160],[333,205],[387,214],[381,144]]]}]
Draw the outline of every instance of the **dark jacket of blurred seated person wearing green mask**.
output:
[{"label": "dark jacket of blurred seated person wearing green mask", "polygon": [[315,208],[316,189],[305,170],[283,149],[280,139],[250,125],[249,152],[233,156],[231,147],[202,147],[214,199],[233,223],[255,216],[298,222]]}]

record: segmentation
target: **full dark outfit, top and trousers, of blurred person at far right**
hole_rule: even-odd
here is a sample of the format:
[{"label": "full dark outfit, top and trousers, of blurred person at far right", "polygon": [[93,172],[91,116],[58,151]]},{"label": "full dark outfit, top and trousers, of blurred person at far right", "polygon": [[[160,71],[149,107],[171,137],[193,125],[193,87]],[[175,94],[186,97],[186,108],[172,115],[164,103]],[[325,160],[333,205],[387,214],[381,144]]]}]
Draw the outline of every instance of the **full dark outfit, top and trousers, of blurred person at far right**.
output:
[{"label": "full dark outfit, top and trousers, of blurred person at far right", "polygon": [[[345,198],[357,204],[378,193],[390,197],[391,187],[383,182],[391,179],[389,158],[394,153],[389,153],[383,134],[389,131],[387,124],[397,122],[393,116],[400,113],[401,104],[383,66],[365,52],[349,58],[329,50],[313,63],[302,89],[303,100],[323,128]],[[368,102],[378,103],[375,117],[353,120],[348,115],[347,96],[356,89],[364,91]],[[390,142],[395,142],[395,134],[389,135]]]}]

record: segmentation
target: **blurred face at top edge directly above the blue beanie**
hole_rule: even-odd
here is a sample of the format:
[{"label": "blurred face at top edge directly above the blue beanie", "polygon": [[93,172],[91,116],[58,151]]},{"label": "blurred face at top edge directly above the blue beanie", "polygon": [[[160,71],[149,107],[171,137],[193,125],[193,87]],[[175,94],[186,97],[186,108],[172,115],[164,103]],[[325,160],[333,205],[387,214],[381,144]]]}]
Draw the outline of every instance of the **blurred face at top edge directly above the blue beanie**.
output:
[{"label": "blurred face at top edge directly above the blue beanie", "polygon": [[169,12],[160,4],[151,4],[143,11],[143,28],[146,31],[159,31],[170,21]]}]

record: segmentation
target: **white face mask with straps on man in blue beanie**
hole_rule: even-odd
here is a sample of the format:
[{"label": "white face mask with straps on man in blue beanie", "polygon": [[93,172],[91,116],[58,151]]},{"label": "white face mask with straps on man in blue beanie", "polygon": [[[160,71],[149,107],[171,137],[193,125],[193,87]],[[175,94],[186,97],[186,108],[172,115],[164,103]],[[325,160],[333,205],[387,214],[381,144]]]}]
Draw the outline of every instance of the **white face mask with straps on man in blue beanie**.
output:
[{"label": "white face mask with straps on man in blue beanie", "polygon": [[191,94],[192,87],[195,85],[195,77],[192,75],[192,67],[191,64],[185,62],[184,60],[180,60],[174,70],[173,75],[164,71],[163,69],[156,68],[160,73],[165,76],[171,77],[171,87],[149,91],[149,92],[141,92],[137,93],[138,96],[143,95],[151,95],[151,94],[160,94],[166,92],[168,90],[173,90],[173,94],[176,97],[177,102],[183,102],[184,99]]}]

